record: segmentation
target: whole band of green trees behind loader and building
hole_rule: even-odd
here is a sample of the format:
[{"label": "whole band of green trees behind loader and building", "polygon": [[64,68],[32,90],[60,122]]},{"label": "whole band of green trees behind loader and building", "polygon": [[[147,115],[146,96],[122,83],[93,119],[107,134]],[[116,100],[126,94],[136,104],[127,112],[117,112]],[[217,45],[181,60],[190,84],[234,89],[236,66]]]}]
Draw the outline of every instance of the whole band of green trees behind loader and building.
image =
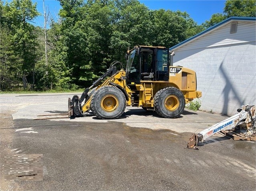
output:
[{"label": "whole band of green trees behind loader and building", "polygon": [[149,10],[138,0],[58,0],[44,32],[32,0],[0,0],[0,91],[89,87],[135,45],[171,47],[229,16],[254,16],[253,1],[227,0],[225,14],[198,25],[186,12]]}]

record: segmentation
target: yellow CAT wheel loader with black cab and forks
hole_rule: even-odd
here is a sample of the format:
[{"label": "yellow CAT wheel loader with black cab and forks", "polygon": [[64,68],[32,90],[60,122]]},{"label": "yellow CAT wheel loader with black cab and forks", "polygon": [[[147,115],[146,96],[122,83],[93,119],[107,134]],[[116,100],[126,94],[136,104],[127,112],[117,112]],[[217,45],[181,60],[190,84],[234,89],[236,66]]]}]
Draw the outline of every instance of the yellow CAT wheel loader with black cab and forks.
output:
[{"label": "yellow CAT wheel loader with black cab and forks", "polygon": [[169,49],[135,46],[125,57],[125,69],[121,62],[113,62],[81,97],[69,98],[69,117],[91,110],[97,118],[117,119],[126,106],[135,106],[164,118],[177,118],[186,103],[202,96],[196,91],[195,71],[172,66]]}]

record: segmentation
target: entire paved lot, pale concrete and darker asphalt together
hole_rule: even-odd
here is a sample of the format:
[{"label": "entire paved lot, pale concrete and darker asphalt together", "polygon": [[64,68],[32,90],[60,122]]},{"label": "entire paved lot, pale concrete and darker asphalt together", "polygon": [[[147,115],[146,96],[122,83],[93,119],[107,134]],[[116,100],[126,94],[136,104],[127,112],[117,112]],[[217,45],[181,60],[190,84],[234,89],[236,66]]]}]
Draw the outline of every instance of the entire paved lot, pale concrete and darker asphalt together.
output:
[{"label": "entire paved lot, pale concrete and darker asphalt together", "polygon": [[[67,112],[66,94],[1,95],[1,190],[256,190],[255,142],[212,136],[185,149],[191,133],[227,116],[185,110],[160,118],[127,107],[117,120]],[[4,180],[4,156],[42,154],[42,181]]]}]

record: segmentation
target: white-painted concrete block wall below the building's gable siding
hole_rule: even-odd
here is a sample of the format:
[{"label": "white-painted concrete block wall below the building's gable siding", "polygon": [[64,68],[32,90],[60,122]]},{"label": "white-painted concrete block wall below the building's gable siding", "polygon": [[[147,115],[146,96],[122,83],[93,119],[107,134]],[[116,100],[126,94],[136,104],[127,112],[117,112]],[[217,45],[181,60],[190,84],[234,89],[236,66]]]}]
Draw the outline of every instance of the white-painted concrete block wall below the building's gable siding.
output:
[{"label": "white-painted concrete block wall below the building's gable siding", "polygon": [[232,116],[242,104],[256,105],[255,42],[175,51],[173,65],[196,71],[200,110]]}]

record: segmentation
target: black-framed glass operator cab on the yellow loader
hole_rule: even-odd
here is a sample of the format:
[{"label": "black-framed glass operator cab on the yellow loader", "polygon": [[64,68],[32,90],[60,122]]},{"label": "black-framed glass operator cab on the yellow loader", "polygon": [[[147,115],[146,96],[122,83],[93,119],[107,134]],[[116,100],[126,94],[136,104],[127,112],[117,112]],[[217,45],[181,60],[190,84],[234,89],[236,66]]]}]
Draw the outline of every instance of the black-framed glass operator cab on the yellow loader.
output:
[{"label": "black-framed glass operator cab on the yellow loader", "polygon": [[128,84],[141,81],[169,80],[169,49],[165,47],[136,46],[127,51]]}]

